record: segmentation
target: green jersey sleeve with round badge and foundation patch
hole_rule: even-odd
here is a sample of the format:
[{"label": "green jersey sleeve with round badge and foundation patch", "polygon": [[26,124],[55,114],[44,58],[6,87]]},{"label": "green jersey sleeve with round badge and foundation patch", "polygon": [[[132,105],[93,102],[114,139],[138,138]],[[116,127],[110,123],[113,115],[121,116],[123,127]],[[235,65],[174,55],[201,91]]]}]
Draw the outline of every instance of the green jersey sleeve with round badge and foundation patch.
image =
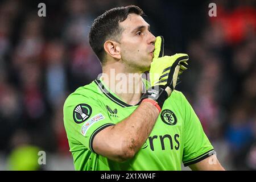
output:
[{"label": "green jersey sleeve with round badge and foundation patch", "polygon": [[[94,152],[92,142],[98,132],[114,125],[102,104],[81,94],[71,94],[63,107],[69,147],[82,145]],[[72,145],[71,143],[76,145]]]}]

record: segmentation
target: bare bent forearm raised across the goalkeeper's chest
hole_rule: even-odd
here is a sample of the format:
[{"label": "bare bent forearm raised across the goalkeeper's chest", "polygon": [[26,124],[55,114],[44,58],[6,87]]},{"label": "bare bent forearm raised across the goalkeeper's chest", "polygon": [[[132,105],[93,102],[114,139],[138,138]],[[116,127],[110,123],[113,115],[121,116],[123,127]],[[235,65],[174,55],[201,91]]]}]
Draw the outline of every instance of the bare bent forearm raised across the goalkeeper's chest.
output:
[{"label": "bare bent forearm raised across the goalkeeper's chest", "polygon": [[142,102],[129,117],[96,135],[94,151],[118,162],[133,158],[146,142],[158,115],[159,110],[153,104]]}]

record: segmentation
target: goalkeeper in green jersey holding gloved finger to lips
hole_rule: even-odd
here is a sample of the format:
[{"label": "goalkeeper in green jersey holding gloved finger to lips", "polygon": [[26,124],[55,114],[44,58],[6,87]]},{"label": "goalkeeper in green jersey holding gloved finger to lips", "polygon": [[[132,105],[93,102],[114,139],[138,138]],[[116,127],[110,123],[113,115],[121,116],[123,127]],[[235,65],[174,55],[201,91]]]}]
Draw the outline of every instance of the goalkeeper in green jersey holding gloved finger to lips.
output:
[{"label": "goalkeeper in green jersey holding gloved finger to lips", "polygon": [[[75,169],[181,170],[183,163],[193,170],[223,170],[199,118],[175,90],[188,55],[164,56],[163,38],[151,34],[142,14],[137,6],[118,7],[92,24],[89,43],[104,74],[64,104]],[[150,84],[139,77],[145,71]],[[111,84],[118,74],[130,73],[138,75],[125,85],[133,92]]]}]

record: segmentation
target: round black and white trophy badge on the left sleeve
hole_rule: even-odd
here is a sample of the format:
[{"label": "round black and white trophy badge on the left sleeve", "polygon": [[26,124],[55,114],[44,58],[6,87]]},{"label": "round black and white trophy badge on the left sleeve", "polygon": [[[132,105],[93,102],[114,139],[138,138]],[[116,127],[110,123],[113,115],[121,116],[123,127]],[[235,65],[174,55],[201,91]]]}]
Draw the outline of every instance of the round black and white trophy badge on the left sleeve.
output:
[{"label": "round black and white trophy badge on the left sleeve", "polygon": [[73,119],[76,123],[82,123],[86,121],[92,114],[92,107],[88,104],[79,104],[73,111]]}]

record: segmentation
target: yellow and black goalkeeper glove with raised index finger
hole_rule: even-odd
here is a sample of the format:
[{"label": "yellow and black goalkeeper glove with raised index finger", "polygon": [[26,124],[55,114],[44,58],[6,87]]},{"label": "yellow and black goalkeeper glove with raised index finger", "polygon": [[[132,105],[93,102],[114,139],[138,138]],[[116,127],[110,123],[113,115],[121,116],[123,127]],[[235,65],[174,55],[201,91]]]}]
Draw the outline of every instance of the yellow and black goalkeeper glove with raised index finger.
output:
[{"label": "yellow and black goalkeeper glove with raised index finger", "polygon": [[188,55],[176,53],[164,55],[163,36],[156,37],[154,58],[150,67],[151,88],[141,97],[141,101],[150,98],[157,102],[162,109],[164,101],[171,96],[177,84],[178,76],[188,69]]}]

